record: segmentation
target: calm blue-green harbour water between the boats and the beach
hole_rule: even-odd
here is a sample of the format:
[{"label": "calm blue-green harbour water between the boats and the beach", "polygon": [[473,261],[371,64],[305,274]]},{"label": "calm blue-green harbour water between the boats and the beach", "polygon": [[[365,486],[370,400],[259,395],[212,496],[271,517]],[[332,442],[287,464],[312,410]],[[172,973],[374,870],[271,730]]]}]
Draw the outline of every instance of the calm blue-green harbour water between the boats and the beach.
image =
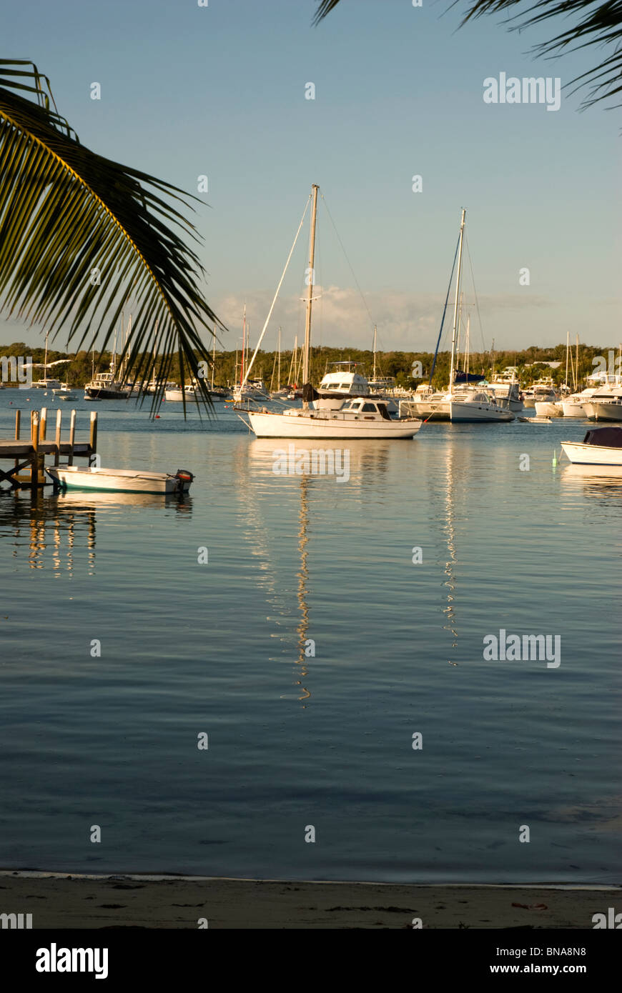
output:
[{"label": "calm blue-green harbour water between the boats and the beach", "polygon": [[[197,479],[0,495],[1,866],[621,882],[622,478],[551,465],[582,423],[350,443],[337,483],[231,412],[97,410],[102,465]],[[485,661],[500,629],[561,664]]]}]

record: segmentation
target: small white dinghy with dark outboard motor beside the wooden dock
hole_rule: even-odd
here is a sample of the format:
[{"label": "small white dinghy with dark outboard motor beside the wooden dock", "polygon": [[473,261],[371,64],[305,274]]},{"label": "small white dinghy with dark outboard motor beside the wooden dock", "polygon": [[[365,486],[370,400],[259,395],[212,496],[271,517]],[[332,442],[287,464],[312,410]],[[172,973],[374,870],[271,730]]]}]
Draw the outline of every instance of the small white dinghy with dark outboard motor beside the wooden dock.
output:
[{"label": "small white dinghy with dark outboard motor beside the wooden dock", "polygon": [[46,473],[63,490],[106,490],[126,494],[187,494],[192,473],[148,473],[133,469],[103,469],[97,466],[47,466]]}]

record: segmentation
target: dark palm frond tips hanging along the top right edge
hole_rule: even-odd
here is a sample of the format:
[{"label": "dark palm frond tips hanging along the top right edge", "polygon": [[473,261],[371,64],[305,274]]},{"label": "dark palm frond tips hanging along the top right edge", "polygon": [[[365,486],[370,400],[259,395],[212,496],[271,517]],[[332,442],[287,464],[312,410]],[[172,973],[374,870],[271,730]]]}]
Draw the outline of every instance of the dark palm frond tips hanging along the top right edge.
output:
[{"label": "dark palm frond tips hanging along the top right edge", "polygon": [[[319,24],[339,2],[340,0],[321,0],[313,23]],[[460,3],[461,0],[453,0],[450,7]],[[572,24],[564,31],[534,46],[532,49],[534,55],[560,56],[566,51],[576,51],[594,45],[599,48],[613,46],[613,52],[609,52],[593,69],[581,72],[567,85],[576,84],[575,89],[588,87],[588,95],[583,100],[583,106],[589,106],[622,92],[621,0],[603,0],[601,3],[594,3],[594,0],[475,0],[462,19],[461,26],[485,14],[502,12],[511,15],[506,19],[511,31],[522,31],[526,27],[540,25],[551,18],[572,20]]]}]

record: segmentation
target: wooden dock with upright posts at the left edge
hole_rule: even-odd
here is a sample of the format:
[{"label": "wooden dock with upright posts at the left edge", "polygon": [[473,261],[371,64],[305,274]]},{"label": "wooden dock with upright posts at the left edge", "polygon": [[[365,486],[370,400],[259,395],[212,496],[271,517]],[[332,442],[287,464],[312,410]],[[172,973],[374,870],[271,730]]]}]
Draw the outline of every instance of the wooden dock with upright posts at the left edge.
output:
[{"label": "wooden dock with upright posts at the left edge", "polygon": [[[72,410],[69,439],[63,441],[63,411],[57,410],[56,432],[54,441],[47,438],[48,410],[33,410],[30,415],[30,438],[21,437],[21,411],[15,411],[15,438],[0,440],[0,461],[12,459],[13,467],[9,470],[0,468],[0,484],[7,482],[11,490],[27,487],[36,491],[46,483],[51,483],[45,474],[46,456],[53,456],[53,465],[58,466],[61,456],[66,457],[65,463],[74,464],[79,456],[90,464],[91,457],[97,451],[97,412],[90,412],[90,430],[87,442],[76,441],[76,411]],[[27,470],[22,474],[22,470]]]}]

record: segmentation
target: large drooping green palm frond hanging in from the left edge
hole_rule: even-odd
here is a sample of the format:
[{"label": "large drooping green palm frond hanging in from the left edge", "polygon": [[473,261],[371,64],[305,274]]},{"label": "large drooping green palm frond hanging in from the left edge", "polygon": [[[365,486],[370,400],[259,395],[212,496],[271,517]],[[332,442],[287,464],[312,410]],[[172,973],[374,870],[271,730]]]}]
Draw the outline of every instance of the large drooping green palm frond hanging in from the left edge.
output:
[{"label": "large drooping green palm frond hanging in from the left edge", "polygon": [[[199,242],[177,187],[80,144],[54,103],[49,80],[22,60],[0,60],[0,309],[45,326],[54,338],[100,350],[131,296],[126,373],[147,378],[156,344],[169,377],[210,362],[201,330],[225,329],[204,300],[204,277],[187,238]],[[199,378],[204,398],[207,385]],[[158,394],[156,394],[156,401]]]}]

